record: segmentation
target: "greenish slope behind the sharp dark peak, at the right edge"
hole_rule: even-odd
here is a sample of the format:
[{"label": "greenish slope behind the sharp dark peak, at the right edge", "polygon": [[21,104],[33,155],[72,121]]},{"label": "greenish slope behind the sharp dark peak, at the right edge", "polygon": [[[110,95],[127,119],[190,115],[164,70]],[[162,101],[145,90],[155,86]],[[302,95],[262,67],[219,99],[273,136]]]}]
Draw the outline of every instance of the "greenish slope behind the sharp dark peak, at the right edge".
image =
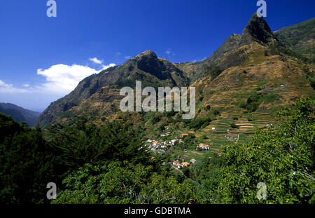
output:
[{"label": "greenish slope behind the sharp dark peak, at the right edge", "polygon": [[284,27],[274,35],[286,46],[315,61],[315,18]]}]

